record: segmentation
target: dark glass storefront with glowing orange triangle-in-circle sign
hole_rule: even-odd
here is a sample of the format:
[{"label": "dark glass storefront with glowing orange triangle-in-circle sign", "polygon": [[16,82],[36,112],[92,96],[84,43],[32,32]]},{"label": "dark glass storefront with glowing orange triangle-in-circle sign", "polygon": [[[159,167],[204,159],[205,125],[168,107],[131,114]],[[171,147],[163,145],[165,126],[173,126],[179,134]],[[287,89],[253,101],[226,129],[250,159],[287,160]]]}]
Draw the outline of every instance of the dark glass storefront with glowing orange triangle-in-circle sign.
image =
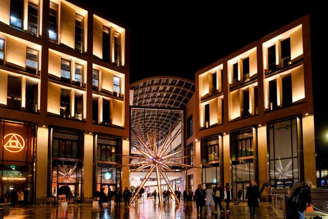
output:
[{"label": "dark glass storefront with glowing orange triangle-in-circle sign", "polygon": [[0,139],[0,194],[10,202],[24,189],[25,202],[33,202],[35,125],[0,120]]}]

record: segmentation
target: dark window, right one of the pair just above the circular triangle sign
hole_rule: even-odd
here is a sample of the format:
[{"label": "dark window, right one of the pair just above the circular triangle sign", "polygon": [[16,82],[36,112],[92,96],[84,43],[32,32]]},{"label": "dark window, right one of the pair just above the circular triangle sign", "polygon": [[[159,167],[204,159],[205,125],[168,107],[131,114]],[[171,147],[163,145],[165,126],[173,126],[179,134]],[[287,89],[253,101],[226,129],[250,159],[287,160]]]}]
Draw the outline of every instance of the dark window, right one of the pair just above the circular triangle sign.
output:
[{"label": "dark window, right one of the pair just above the circular triangle sign", "polygon": [[37,82],[26,79],[26,111],[37,112]]}]

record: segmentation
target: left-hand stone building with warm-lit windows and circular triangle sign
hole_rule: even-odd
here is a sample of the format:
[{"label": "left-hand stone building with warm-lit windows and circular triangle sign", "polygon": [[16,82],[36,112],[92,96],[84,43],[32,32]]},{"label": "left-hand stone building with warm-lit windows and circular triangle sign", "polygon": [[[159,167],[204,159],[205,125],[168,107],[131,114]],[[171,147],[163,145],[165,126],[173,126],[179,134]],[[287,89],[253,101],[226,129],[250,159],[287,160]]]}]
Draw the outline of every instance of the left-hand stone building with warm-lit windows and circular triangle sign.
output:
[{"label": "left-hand stone building with warm-lit windows and circular triangle sign", "polygon": [[[129,185],[127,28],[73,1],[0,2],[0,192]],[[36,189],[37,188],[37,189]]]}]

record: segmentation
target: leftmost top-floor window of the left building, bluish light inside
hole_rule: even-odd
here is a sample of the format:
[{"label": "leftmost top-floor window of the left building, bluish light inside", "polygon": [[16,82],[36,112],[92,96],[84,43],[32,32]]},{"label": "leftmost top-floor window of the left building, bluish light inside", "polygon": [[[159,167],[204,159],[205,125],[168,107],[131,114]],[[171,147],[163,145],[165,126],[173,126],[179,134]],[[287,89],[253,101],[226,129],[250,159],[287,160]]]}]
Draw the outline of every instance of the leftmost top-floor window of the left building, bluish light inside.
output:
[{"label": "leftmost top-floor window of the left building, bluish light inside", "polygon": [[23,0],[10,0],[10,27],[22,31],[23,30]]}]

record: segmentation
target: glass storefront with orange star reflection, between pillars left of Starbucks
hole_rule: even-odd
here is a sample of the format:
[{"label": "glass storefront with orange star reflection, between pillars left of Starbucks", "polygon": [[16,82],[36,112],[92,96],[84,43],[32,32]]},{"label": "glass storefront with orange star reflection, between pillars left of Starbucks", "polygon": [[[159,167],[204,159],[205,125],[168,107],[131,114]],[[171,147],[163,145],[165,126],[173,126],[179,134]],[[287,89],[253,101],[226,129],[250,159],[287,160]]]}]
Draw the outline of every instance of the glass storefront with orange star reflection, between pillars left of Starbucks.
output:
[{"label": "glass storefront with orange star reflection, between pillars left of Starbucks", "polygon": [[80,202],[83,197],[82,168],[84,132],[61,128],[51,128],[51,191],[50,196],[66,197],[57,191],[61,186],[71,189],[67,200]]}]

